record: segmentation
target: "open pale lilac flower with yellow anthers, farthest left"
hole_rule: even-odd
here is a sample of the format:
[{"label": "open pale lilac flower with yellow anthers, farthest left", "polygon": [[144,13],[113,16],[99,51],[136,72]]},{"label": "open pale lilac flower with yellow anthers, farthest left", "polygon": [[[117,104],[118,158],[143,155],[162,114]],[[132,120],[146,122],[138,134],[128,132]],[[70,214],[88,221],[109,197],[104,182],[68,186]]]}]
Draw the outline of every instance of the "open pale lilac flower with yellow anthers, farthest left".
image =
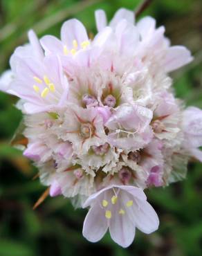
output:
[{"label": "open pale lilac flower with yellow anthers, farthest left", "polygon": [[68,81],[57,56],[37,60],[21,57],[17,62],[15,80],[8,93],[25,100],[26,113],[55,111],[64,107],[68,96]]}]

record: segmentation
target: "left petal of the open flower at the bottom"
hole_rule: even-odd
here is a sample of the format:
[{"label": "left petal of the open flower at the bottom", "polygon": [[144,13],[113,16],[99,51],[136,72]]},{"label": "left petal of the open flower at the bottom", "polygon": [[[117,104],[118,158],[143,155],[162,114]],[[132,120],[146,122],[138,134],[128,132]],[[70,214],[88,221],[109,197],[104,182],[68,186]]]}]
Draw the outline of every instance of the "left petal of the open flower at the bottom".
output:
[{"label": "left petal of the open flower at the bottom", "polygon": [[104,210],[96,203],[89,210],[84,220],[83,236],[91,241],[96,242],[102,239],[107,232],[108,223],[104,215]]}]

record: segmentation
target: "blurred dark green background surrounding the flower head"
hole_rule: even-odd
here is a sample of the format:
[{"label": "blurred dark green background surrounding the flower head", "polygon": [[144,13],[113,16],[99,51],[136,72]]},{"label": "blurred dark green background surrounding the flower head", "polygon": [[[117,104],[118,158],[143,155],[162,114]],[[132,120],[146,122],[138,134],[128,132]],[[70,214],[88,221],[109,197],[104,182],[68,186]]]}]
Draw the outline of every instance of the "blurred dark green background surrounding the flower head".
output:
[{"label": "blurred dark green background surrounding the flower head", "polygon": [[[93,12],[106,10],[109,18],[120,7],[136,8],[139,0],[0,0],[0,73],[9,67],[15,47],[27,42],[29,28],[37,35],[59,36],[62,22],[80,19],[95,33]],[[176,95],[187,105],[202,108],[202,1],[154,0],[141,16],[152,15],[166,26],[172,44],[190,48],[192,64],[172,73]],[[86,210],[74,210],[59,196],[33,210],[45,188],[33,181],[37,170],[10,146],[21,120],[17,99],[0,93],[0,256],[201,256],[202,255],[202,165],[190,163],[187,179],[169,188],[147,192],[160,217],[152,235],[136,232],[136,239],[122,249],[109,234],[97,244],[82,237]]]}]

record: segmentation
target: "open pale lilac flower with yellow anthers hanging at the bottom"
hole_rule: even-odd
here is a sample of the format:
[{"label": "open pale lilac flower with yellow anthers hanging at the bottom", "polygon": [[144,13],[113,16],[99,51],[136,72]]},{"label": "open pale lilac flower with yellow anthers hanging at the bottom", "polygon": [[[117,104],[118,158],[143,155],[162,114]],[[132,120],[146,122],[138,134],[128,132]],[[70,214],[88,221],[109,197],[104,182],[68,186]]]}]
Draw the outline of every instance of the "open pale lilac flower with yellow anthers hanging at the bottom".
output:
[{"label": "open pale lilac flower with yellow anthers hanging at the bottom", "polygon": [[146,234],[158,229],[158,216],[145,193],[133,186],[104,188],[89,196],[83,207],[88,206],[83,235],[89,241],[99,241],[109,228],[113,241],[125,248],[134,240],[136,228]]}]

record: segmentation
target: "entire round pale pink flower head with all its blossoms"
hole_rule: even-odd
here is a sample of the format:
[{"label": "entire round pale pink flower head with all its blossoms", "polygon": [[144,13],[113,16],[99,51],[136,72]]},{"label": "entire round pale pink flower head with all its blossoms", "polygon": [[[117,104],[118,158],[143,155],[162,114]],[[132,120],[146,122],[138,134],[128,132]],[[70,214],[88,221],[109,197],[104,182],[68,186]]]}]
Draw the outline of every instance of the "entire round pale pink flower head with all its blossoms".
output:
[{"label": "entire round pale pink flower head with all its blossoms", "polygon": [[109,24],[102,10],[95,19],[93,39],[77,19],[64,22],[61,39],[37,39],[30,30],[0,85],[20,98],[24,156],[50,196],[90,208],[83,227],[89,241],[109,228],[127,247],[136,228],[158,228],[143,190],[185,178],[190,157],[202,161],[202,111],[174,97],[168,73],[192,56],[170,46],[163,26],[152,17],[135,23],[124,8]]}]

